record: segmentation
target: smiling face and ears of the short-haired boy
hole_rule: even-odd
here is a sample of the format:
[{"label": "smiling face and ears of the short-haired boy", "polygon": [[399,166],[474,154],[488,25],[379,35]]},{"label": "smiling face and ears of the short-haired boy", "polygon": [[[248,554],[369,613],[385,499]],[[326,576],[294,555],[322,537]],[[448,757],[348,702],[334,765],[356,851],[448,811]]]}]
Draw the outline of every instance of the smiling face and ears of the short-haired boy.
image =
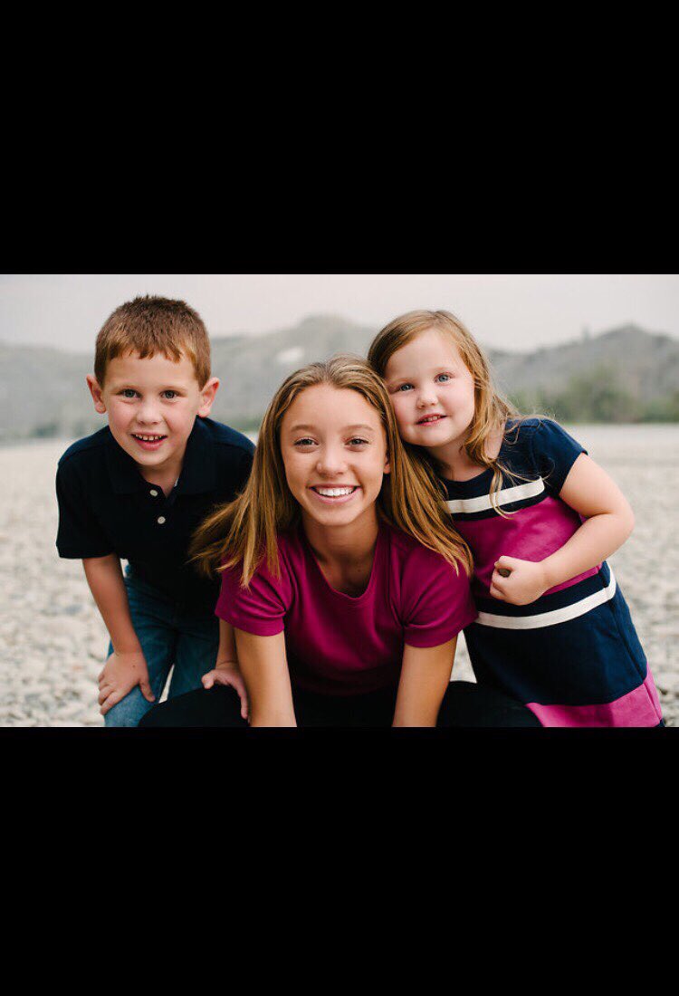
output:
[{"label": "smiling face and ears of the short-haired boy", "polygon": [[[108,412],[113,438],[148,481],[178,478],[196,415],[205,417],[219,385],[211,377],[201,388],[191,360],[164,354],[129,353],[109,362],[104,387],[88,376],[95,407]],[[167,481],[161,481],[167,478]]]}]

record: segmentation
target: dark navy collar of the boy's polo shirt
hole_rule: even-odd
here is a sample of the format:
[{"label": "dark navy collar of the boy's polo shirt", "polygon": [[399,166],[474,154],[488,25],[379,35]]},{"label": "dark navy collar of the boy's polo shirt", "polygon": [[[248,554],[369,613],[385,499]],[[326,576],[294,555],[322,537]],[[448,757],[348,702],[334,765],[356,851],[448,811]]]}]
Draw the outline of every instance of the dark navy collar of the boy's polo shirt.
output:
[{"label": "dark navy collar of the boy's polo shirt", "polygon": [[[113,439],[109,429],[107,466],[114,494],[133,494],[146,491],[146,481],[128,453]],[[184,462],[177,482],[180,494],[202,494],[216,487],[217,478],[210,432],[202,418],[196,417],[191,434],[186,440]]]}]

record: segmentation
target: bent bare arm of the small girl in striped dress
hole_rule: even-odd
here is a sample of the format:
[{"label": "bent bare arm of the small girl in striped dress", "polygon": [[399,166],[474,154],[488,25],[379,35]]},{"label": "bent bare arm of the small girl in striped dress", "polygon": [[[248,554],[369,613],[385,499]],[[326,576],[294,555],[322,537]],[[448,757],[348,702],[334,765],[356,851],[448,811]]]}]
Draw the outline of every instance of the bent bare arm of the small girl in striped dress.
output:
[{"label": "bent bare arm of the small girl in striped dress", "polygon": [[[634,514],[617,484],[594,461],[580,453],[560,495],[584,516],[577,532],[544,561],[501,557],[495,564],[491,595],[501,602],[526,606],[556,585],[596,567],[622,546],[634,528]],[[511,571],[508,578],[498,572]]]}]

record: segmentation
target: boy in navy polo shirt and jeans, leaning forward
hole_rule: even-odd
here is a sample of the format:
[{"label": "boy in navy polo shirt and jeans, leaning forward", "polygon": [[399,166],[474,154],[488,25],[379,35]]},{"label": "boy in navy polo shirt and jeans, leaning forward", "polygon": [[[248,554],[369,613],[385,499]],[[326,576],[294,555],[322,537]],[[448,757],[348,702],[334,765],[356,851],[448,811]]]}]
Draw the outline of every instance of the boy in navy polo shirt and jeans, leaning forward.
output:
[{"label": "boy in navy polo shirt and jeans, leaning forward", "polygon": [[219,380],[205,326],[183,301],[146,296],[117,308],[87,379],[109,425],[59,461],[57,549],[83,560],[111,636],[105,724],[136,726],[172,664],[168,697],[199,688],[215,666],[219,582],[198,575],[187,548],[207,513],[243,489],[254,446],[207,417]]}]

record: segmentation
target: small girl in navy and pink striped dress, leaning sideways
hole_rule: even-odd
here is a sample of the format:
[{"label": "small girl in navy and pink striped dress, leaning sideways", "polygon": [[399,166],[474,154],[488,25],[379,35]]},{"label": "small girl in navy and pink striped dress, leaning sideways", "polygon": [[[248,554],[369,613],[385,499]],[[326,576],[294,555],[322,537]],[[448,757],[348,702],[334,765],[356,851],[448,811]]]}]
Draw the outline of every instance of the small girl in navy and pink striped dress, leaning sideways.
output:
[{"label": "small girl in navy and pink striped dress, leaning sideways", "polygon": [[479,613],[465,636],[478,681],[521,699],[544,726],[662,725],[605,563],[634,521],[613,481],[556,422],[517,417],[449,312],[395,319],[368,360],[472,551]]}]

